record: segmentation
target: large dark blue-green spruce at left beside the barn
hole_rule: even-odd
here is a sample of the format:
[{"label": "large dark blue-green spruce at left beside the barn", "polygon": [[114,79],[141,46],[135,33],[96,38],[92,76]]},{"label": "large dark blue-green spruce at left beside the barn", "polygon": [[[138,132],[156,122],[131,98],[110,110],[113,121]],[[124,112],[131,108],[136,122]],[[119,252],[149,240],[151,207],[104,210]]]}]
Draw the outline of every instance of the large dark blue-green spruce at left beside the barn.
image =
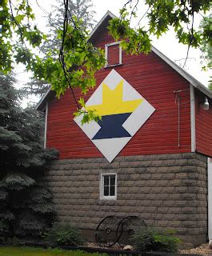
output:
[{"label": "large dark blue-green spruce at left beside the barn", "polygon": [[43,149],[43,117],[22,110],[13,83],[14,78],[0,75],[0,238],[38,235],[54,212],[41,177],[57,152]]}]

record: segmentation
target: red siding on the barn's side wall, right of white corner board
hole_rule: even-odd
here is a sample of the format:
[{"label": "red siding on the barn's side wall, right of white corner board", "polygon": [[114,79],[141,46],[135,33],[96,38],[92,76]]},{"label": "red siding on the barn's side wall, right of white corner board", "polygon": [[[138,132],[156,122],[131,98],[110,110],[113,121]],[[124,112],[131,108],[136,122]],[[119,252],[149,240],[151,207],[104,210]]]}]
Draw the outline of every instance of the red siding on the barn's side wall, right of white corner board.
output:
[{"label": "red siding on the barn's side wall, right of white corner board", "polygon": [[202,110],[199,106],[206,96],[195,90],[195,126],[197,151],[212,157],[212,100],[209,110]]}]

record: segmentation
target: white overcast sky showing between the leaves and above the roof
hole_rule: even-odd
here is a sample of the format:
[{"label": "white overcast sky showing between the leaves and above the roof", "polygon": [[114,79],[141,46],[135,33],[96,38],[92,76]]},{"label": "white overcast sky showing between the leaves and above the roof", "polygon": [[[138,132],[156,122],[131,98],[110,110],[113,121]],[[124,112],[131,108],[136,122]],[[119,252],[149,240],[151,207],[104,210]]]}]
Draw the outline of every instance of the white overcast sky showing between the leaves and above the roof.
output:
[{"label": "white overcast sky showing between the leaves and above the roof", "polygon": [[[124,4],[127,2],[126,0],[93,0],[94,4],[93,10],[95,10],[96,14],[94,16],[94,20],[99,22],[101,18],[106,14],[107,10],[110,10],[113,14],[116,16],[119,15],[119,10],[124,6]],[[146,12],[146,6],[142,5],[139,6],[138,9],[138,15],[142,17],[142,14]],[[33,10],[35,13],[36,21],[38,22],[38,27],[42,31],[46,31],[46,20],[44,16],[46,16],[46,12],[50,12],[51,6],[56,4],[56,0],[30,0],[30,4],[33,6]],[[39,6],[38,6],[39,5]],[[201,21],[200,17],[195,17],[196,25]],[[146,19],[142,19],[142,22],[145,25]],[[131,22],[131,26],[135,26],[137,24],[136,21]],[[170,30],[168,33],[162,36],[162,38],[152,38],[152,45],[156,47],[158,50],[162,52],[162,54],[165,54],[168,58],[176,62],[178,65],[183,65],[185,58],[186,58],[186,52],[187,52],[187,46],[183,46],[182,44],[178,43],[178,40],[174,36],[174,31]],[[209,72],[201,71],[202,64],[201,64],[201,52],[200,50],[195,50],[193,48],[190,48],[189,51],[189,58],[186,61],[185,70],[194,76],[199,82],[202,82],[205,86],[207,86],[207,82],[210,77]],[[17,66],[17,73],[18,73],[18,80],[19,85],[21,86],[23,83],[27,82],[27,80],[30,77],[30,74],[26,74],[23,71],[23,66]]]}]

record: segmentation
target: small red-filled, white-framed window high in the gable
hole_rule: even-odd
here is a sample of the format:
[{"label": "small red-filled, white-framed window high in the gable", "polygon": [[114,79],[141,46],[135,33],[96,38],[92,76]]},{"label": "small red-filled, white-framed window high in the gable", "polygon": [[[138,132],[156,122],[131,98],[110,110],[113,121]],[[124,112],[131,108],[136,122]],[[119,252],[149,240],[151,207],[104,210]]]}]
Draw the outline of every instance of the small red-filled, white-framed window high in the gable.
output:
[{"label": "small red-filled, white-framed window high in the gable", "polygon": [[122,64],[122,47],[120,42],[106,44],[106,67]]}]

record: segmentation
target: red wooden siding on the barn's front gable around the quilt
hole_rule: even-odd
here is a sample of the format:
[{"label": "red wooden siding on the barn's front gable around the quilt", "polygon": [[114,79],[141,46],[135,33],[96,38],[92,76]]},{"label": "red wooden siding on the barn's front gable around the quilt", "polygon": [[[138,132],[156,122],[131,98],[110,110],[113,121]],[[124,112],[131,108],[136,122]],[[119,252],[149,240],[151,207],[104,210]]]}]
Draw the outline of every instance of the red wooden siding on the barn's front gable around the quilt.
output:
[{"label": "red wooden siding on the barn's front gable around the quilt", "polygon": [[[99,34],[97,46],[114,42],[106,30]],[[156,109],[119,155],[169,154],[190,152],[190,86],[156,54],[130,56],[122,53],[122,66],[114,67],[131,86]],[[99,70],[97,86],[112,68]],[[178,147],[178,104],[174,90],[181,94],[180,141]],[[79,96],[79,92],[76,92]],[[90,97],[90,92],[86,99]],[[76,110],[70,91],[49,102],[47,146],[57,148],[60,158],[102,157],[86,134],[73,121]]]}]

